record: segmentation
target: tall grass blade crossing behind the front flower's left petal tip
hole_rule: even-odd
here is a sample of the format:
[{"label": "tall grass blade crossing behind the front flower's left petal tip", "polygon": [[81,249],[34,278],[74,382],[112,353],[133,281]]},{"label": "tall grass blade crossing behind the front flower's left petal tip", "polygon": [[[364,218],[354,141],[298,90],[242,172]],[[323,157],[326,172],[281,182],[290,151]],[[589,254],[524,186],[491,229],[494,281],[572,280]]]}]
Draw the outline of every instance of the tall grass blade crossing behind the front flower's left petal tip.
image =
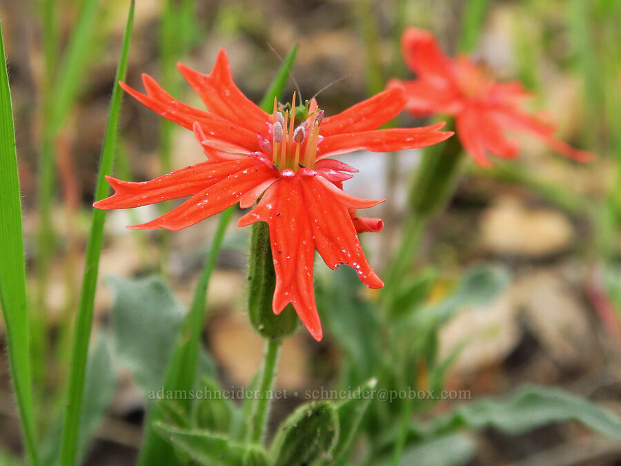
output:
[{"label": "tall grass blade crossing behind the front flower's left petal tip", "polygon": [[[99,160],[99,174],[97,175],[97,188],[95,188],[95,200],[103,199],[103,197],[108,195],[109,187],[104,175],[112,171],[112,162],[114,160],[117,124],[119,122],[122,96],[121,88],[119,88],[118,83],[124,80],[126,75],[130,35],[134,20],[134,6],[135,3],[132,1],[130,3],[130,11],[123,37],[121,57],[119,58],[119,64],[117,66],[114,90],[112,90],[106,134],[103,137],[101,159]],[[76,316],[71,350],[71,367],[61,440],[62,465],[72,465],[75,463],[76,458],[86,361],[88,358],[88,342],[90,340],[90,330],[92,326],[92,312],[95,304],[95,289],[97,287],[97,275],[99,273],[99,255],[103,242],[103,222],[105,218],[105,211],[93,211],[90,237],[86,250],[86,264],[84,264],[79,308]]]}]

